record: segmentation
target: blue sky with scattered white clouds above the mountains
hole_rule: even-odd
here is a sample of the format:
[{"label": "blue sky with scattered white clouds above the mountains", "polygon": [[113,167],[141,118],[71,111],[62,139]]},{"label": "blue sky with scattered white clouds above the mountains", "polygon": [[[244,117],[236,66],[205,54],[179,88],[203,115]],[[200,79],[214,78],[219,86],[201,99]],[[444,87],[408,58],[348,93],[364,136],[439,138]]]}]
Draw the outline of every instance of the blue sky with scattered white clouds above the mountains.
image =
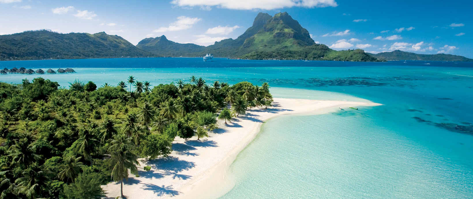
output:
[{"label": "blue sky with scattered white clouds above the mountains", "polygon": [[287,11],[335,50],[402,50],[473,58],[473,1],[457,0],[0,0],[0,35],[105,31],[137,44],[166,35],[210,45],[236,38],[258,12]]}]

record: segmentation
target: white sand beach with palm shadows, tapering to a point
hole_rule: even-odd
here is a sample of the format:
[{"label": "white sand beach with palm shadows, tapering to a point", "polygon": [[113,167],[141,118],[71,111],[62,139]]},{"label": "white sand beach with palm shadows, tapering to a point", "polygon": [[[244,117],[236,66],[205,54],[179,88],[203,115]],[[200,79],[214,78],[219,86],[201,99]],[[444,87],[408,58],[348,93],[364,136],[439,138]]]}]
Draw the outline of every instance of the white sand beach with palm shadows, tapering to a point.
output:
[{"label": "white sand beach with palm shadows, tapering to a point", "polygon": [[[128,199],[217,198],[232,188],[231,180],[226,180],[231,177],[228,168],[258,134],[264,121],[283,114],[323,114],[338,107],[376,105],[381,104],[274,98],[272,107],[249,110],[232,123],[219,121],[220,129],[209,133],[209,138],[175,138],[174,151],[168,157],[140,159],[140,177],[129,176],[123,184],[123,195]],[[151,166],[151,171],[142,169],[146,165]],[[119,182],[102,188],[107,197],[120,195]]]}]

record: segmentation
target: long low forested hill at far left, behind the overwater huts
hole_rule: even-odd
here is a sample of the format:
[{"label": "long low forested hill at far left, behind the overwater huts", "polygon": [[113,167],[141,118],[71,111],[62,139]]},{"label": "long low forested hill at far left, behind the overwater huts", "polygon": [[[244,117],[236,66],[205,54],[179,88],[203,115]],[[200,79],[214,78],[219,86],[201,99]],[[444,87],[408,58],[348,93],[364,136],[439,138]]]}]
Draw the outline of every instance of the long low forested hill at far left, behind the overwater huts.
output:
[{"label": "long low forested hill at far left, behind the overwater huts", "polygon": [[0,60],[155,57],[105,32],[60,34],[48,30],[0,35]]}]

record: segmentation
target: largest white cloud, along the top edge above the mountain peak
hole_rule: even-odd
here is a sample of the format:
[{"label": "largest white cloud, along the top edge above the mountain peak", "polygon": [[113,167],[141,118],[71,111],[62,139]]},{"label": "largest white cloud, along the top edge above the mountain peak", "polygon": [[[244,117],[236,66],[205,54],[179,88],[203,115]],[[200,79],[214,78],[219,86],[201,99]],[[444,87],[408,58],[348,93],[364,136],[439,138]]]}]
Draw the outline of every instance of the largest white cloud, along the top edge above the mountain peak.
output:
[{"label": "largest white cloud, along the top edge above the mountain peak", "polygon": [[291,7],[337,7],[335,0],[173,0],[172,4],[179,7],[199,6],[205,9],[216,6],[224,9],[282,9]]}]

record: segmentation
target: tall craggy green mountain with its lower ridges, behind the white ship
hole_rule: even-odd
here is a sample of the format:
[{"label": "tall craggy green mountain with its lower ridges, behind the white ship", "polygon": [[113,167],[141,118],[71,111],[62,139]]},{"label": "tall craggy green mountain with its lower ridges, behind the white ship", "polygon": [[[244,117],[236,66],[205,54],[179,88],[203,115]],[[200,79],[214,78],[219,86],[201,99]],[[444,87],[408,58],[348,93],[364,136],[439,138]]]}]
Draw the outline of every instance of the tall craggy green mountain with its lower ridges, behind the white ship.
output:
[{"label": "tall craggy green mountain with its lower ridges, behind the white ship", "polygon": [[216,57],[251,60],[380,61],[363,50],[334,51],[324,44],[316,44],[309,32],[287,12],[278,13],[274,17],[259,13],[253,26],[243,35],[235,40],[224,39],[207,47],[171,42],[164,35],[146,38],[137,47],[173,57],[196,57],[213,53]]}]

